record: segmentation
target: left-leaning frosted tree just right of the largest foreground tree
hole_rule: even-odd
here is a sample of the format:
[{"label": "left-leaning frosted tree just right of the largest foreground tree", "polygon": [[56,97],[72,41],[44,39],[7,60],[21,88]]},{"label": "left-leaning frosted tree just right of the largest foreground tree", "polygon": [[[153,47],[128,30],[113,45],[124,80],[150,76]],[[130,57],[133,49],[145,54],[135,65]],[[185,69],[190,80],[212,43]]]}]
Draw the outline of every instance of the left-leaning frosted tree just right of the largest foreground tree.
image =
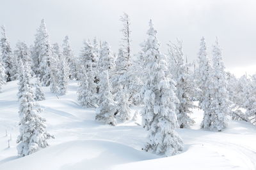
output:
[{"label": "left-leaning frosted tree just right of the largest foreground tree", "polygon": [[189,114],[192,113],[191,109],[196,107],[191,100],[195,87],[190,78],[189,66],[184,63],[182,41],[178,40],[177,45],[172,43],[169,46],[168,67],[173,75],[173,80],[176,82],[175,94],[179,99],[179,103],[176,103],[177,119],[180,128],[189,127],[189,125],[195,123],[195,121],[189,117]]}]

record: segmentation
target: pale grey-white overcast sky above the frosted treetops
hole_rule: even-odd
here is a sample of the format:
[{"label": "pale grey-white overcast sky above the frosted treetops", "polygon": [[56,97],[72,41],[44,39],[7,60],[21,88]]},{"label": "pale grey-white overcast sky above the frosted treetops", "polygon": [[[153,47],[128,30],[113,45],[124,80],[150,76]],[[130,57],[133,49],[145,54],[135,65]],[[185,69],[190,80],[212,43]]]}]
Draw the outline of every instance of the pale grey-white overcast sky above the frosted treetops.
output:
[{"label": "pale grey-white overcast sky above the frosted treetops", "polygon": [[61,44],[68,35],[77,55],[83,39],[95,36],[117,51],[119,18],[125,11],[131,18],[132,52],[140,50],[152,18],[164,53],[166,43],[179,38],[192,61],[202,36],[209,54],[218,36],[225,66],[241,74],[256,68],[255,9],[255,0],[0,0],[0,24],[6,26],[13,48],[18,40],[32,44],[45,18],[51,43]]}]

